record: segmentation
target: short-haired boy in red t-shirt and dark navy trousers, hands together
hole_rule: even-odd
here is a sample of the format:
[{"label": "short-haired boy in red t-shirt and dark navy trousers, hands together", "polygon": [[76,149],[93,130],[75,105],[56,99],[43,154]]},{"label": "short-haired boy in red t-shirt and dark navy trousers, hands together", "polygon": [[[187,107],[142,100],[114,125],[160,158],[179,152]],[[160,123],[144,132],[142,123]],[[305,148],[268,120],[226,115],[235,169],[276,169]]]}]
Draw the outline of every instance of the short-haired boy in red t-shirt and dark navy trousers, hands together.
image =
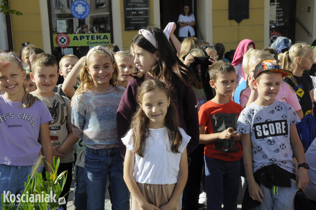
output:
[{"label": "short-haired boy in red t-shirt and dark navy trousers, hands together", "polygon": [[207,210],[221,209],[222,204],[226,209],[237,209],[242,150],[236,128],[243,108],[230,100],[236,71],[230,63],[220,60],[211,65],[209,74],[216,96],[198,113],[200,144],[205,144]]}]

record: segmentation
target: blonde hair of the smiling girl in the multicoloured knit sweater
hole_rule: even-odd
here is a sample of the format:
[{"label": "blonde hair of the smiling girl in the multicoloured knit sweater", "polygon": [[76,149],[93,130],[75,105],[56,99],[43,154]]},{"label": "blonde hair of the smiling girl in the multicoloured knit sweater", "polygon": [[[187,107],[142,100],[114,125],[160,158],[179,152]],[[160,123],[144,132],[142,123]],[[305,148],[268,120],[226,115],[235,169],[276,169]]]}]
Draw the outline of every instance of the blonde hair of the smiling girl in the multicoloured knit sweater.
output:
[{"label": "blonde hair of the smiling girl in the multicoloured knit sweater", "polygon": [[[89,88],[91,88],[93,86],[93,79],[89,75],[89,72],[86,70],[86,66],[88,66],[88,63],[90,63],[91,59],[93,59],[94,56],[105,56],[106,58],[108,58],[112,61],[111,54],[109,54],[105,50],[94,50],[93,52],[91,52],[91,54],[88,57],[88,62],[87,62],[87,59],[84,59],[83,64],[81,66],[81,70],[79,72],[79,78],[80,78],[81,84],[78,87],[78,89],[76,90],[74,96],[76,96],[76,95],[79,96],[80,94],[86,92]],[[113,58],[112,64],[116,64],[115,58]],[[117,66],[116,66],[114,68],[112,78],[110,79],[110,84],[113,85],[113,87],[116,87],[116,85],[118,83],[118,77],[119,77],[119,71],[118,71]]]}]

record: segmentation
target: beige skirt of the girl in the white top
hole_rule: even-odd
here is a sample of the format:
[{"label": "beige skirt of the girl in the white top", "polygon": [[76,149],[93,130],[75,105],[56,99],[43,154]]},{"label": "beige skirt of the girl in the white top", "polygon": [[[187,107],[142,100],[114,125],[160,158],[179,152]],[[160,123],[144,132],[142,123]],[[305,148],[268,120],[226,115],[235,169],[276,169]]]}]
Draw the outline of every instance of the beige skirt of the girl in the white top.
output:
[{"label": "beige skirt of the girl in the white top", "polygon": [[[151,204],[154,204],[157,207],[161,207],[166,204],[172,194],[173,189],[176,184],[141,184],[137,183],[140,191],[145,197],[146,201]],[[131,195],[131,210],[142,210],[142,208],[138,205],[136,199]],[[181,210],[180,208],[180,198],[177,202],[175,208],[173,210]]]}]

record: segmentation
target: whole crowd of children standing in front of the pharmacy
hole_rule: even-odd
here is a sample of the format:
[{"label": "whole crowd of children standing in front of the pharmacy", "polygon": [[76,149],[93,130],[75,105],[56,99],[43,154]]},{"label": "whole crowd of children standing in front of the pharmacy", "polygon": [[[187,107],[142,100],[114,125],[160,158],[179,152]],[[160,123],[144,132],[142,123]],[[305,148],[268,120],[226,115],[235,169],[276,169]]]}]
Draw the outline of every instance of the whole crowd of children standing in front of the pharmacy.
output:
[{"label": "whole crowd of children standing in front of the pharmacy", "polygon": [[[1,141],[0,191],[20,193],[41,151],[51,165],[53,156],[61,158],[60,172],[68,170],[61,194],[67,199],[78,142],[85,149],[76,161],[77,209],[103,210],[107,180],[115,210],[179,210],[183,192],[186,208],[197,209],[203,179],[207,209],[237,209],[242,157],[248,182],[243,209],[294,209],[296,192],[308,183],[303,146],[311,143],[302,145],[295,124],[304,118],[309,123],[301,126],[301,136],[312,129],[312,102],[297,102],[293,89],[303,96],[313,88],[301,78],[313,63],[313,50],[293,45],[284,54],[284,70],[246,40],[236,74],[229,62],[217,61],[214,47],[181,52],[174,29],[139,30],[131,53],[95,46],[81,59],[66,55],[59,73],[51,54],[30,55],[35,48],[21,51],[26,69],[15,55],[0,53],[0,130],[7,139]],[[186,38],[183,47],[186,41],[195,40]],[[27,88],[27,71],[36,89]],[[240,105],[232,95],[243,78],[248,87],[240,93],[246,104]],[[50,171],[47,164],[45,170]]]}]

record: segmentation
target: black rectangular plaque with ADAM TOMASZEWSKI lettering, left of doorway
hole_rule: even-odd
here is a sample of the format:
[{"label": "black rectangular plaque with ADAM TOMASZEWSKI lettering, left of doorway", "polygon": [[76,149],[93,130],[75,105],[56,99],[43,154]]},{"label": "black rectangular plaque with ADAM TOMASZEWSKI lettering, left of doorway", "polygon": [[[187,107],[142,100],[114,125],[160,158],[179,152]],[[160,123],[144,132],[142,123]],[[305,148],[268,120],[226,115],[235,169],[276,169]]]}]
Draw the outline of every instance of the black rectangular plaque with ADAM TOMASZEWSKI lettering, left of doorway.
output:
[{"label": "black rectangular plaque with ADAM TOMASZEWSKI lettering, left of doorway", "polygon": [[125,30],[139,30],[150,25],[150,0],[124,0]]}]

